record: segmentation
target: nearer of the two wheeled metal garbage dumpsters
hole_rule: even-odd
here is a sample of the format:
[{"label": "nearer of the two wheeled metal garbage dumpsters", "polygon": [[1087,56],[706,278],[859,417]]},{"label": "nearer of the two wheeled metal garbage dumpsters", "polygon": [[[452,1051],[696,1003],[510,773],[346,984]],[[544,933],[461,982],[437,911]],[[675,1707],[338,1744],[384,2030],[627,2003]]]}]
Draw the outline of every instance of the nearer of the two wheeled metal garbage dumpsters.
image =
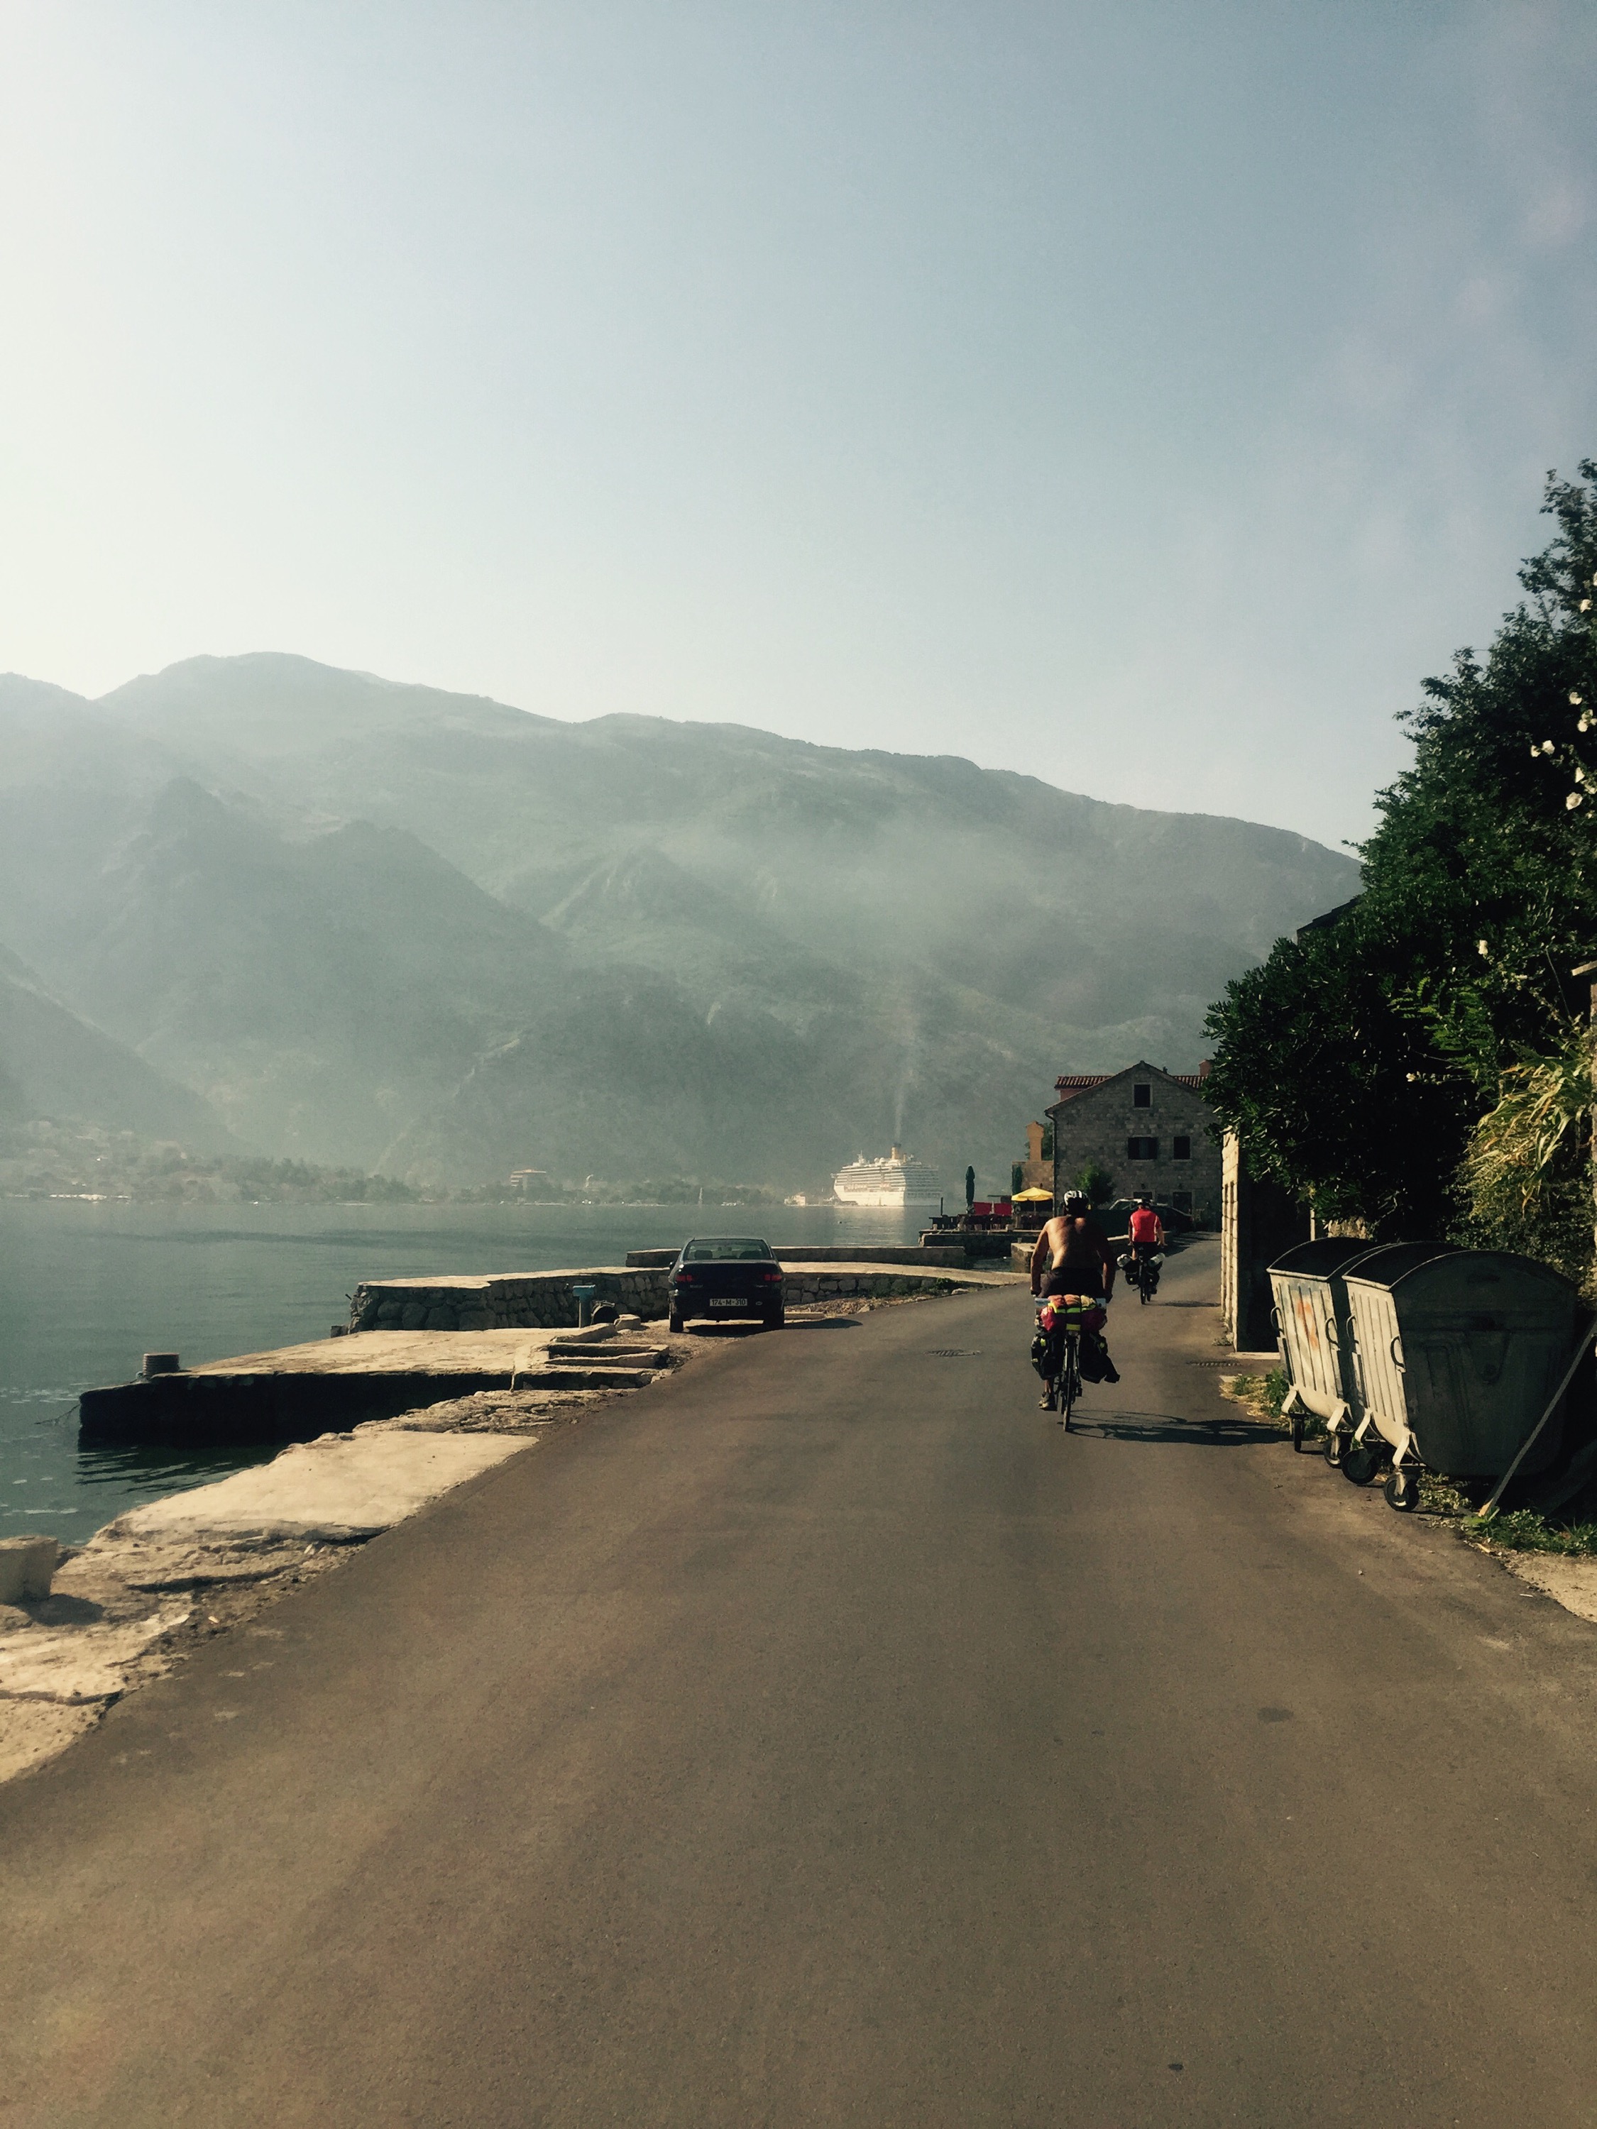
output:
[{"label": "nearer of the two wheeled metal garbage dumpsters", "polygon": [[[1582,1316],[1569,1280],[1508,1250],[1407,1241],[1350,1262],[1344,1282],[1363,1405],[1348,1478],[1365,1460],[1373,1478],[1380,1443],[1393,1452],[1393,1507],[1418,1501],[1420,1465],[1501,1478],[1574,1354]],[[1554,1412],[1520,1471],[1546,1471],[1561,1439]]]}]

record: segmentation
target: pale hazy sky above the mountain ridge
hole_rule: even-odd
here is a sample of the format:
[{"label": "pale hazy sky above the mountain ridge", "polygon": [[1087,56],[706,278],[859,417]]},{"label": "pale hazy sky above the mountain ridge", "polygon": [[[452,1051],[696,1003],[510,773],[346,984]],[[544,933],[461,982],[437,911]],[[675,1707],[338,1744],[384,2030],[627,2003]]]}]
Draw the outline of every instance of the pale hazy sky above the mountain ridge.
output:
[{"label": "pale hazy sky above the mountain ridge", "polygon": [[1597,456],[1593,113],[1593,0],[0,0],[0,669],[1356,837]]}]

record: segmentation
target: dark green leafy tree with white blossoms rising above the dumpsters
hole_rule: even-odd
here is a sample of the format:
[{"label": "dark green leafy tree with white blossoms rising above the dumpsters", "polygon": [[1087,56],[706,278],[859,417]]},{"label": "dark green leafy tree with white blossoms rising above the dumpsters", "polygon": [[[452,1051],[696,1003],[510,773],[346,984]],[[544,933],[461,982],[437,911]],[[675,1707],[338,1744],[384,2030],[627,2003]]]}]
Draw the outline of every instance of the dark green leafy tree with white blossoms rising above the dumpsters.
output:
[{"label": "dark green leafy tree with white blossoms rising above the dumpsters", "polygon": [[1593,460],[1548,477],[1529,596],[1484,660],[1425,681],[1359,901],[1209,1013],[1207,1092],[1254,1171],[1382,1237],[1480,1218],[1476,1124],[1576,1030],[1559,975],[1597,947],[1595,483]]}]

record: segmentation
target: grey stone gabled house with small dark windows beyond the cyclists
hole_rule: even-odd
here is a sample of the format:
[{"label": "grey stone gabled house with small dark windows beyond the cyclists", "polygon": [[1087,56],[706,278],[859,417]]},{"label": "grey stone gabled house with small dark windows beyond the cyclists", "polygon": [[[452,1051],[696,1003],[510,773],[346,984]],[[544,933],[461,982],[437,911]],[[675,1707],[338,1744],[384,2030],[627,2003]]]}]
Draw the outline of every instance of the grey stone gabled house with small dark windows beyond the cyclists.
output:
[{"label": "grey stone gabled house with small dark windows beyond the cyclists", "polygon": [[1088,1167],[1103,1169],[1114,1196],[1152,1196],[1220,1220],[1220,1120],[1203,1096],[1209,1067],[1195,1073],[1129,1064],[1116,1073],[1069,1073],[1054,1082],[1054,1199]]}]

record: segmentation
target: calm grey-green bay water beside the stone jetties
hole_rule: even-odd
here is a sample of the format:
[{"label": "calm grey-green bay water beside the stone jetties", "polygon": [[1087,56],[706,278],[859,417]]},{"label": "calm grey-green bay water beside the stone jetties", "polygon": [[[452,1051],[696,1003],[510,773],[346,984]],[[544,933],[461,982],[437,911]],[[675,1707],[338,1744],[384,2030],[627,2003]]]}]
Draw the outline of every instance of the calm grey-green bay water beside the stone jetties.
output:
[{"label": "calm grey-green bay water beside the stone jetties", "polygon": [[0,1537],[81,1541],[164,1492],[270,1456],[79,1450],[79,1390],[145,1352],[224,1360],[326,1337],[358,1280],[620,1265],[690,1233],[913,1241],[918,1218],[822,1205],[87,1205],[0,1201]]}]

